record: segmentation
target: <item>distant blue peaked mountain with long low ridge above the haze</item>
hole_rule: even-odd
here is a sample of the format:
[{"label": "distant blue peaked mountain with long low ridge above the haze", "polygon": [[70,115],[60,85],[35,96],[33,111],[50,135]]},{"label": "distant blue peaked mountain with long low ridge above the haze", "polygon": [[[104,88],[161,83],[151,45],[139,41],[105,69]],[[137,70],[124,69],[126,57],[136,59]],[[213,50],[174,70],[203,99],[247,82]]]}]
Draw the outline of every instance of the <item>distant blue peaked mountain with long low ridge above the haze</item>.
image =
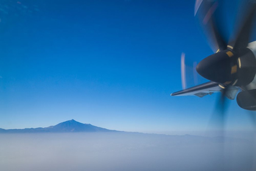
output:
[{"label": "distant blue peaked mountain with long low ridge above the haze", "polygon": [[76,120],[67,120],[60,124],[46,128],[25,128],[4,130],[0,128],[0,133],[68,133],[68,132],[113,132],[116,130],[107,130],[96,127],[91,124],[82,124]]}]

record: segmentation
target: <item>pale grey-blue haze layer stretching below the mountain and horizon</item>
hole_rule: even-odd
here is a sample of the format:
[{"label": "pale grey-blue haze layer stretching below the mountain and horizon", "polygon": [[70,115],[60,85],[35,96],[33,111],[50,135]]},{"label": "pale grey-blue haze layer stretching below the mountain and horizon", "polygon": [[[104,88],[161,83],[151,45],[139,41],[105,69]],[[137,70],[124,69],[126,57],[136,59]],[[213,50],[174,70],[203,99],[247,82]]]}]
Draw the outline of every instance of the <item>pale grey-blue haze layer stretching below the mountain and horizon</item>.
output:
[{"label": "pale grey-blue haze layer stretching below the mountain and horizon", "polygon": [[1,134],[0,170],[252,170],[252,141],[142,133]]}]

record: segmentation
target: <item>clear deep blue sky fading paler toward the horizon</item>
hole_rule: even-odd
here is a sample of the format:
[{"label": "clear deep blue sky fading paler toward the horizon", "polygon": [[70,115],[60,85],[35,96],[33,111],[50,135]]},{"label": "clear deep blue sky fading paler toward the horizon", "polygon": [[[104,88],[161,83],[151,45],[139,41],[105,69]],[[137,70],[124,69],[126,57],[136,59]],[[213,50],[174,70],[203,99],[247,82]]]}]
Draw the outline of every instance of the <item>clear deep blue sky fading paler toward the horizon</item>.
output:
[{"label": "clear deep blue sky fading paler toward the horizon", "polygon": [[[236,4],[221,4],[226,31]],[[0,9],[0,128],[69,119],[158,133],[207,127],[216,94],[170,96],[182,89],[182,52],[197,62],[212,54],[194,1],[24,0]],[[246,114],[230,102],[228,127],[250,127]]]}]

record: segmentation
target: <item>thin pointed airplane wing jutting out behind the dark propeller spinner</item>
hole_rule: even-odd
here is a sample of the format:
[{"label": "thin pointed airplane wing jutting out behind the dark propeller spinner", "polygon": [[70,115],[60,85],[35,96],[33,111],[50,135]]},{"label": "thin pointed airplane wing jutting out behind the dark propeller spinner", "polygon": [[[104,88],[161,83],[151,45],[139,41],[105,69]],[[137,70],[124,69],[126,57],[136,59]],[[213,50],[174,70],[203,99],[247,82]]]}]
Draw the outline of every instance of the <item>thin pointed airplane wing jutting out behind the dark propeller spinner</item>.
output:
[{"label": "thin pointed airplane wing jutting out behind the dark propeller spinner", "polygon": [[[215,82],[207,82],[201,85],[193,86],[191,88],[183,89],[182,91],[177,91],[171,94],[171,96],[197,96],[204,97],[208,94],[212,95],[214,92],[221,92],[224,89],[223,86]],[[230,100],[235,99],[238,88],[232,86],[226,92],[226,97]]]}]

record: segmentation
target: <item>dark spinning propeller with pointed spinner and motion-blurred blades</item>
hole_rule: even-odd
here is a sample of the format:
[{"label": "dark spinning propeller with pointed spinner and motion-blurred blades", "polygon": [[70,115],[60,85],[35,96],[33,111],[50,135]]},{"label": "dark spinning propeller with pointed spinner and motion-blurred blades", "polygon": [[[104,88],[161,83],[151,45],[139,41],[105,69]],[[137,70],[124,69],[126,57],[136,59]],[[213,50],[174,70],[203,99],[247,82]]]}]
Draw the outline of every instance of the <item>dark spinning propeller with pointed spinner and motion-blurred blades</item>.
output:
[{"label": "dark spinning propeller with pointed spinner and motion-blurred blades", "polygon": [[[240,87],[246,94],[240,96],[250,97],[252,93],[246,90],[246,86],[252,82],[256,74],[255,55],[247,49],[249,38],[251,37],[252,23],[255,18],[256,3],[248,2],[246,14],[242,21],[237,23],[238,29],[233,38],[229,41],[224,40],[221,26],[216,19],[216,10],[219,2],[214,0],[196,0],[194,15],[199,19],[199,23],[207,36],[208,43],[215,54],[204,58],[196,67],[196,71],[205,79],[219,83],[222,88],[220,99],[216,103],[217,116],[215,124],[223,131],[227,103],[226,97],[229,96],[233,86]],[[227,43],[228,42],[228,43]],[[255,91],[256,97],[256,91]],[[242,98],[237,98],[238,105],[242,103]],[[240,105],[241,106],[241,105]],[[217,119],[216,119],[217,118]],[[222,133],[223,134],[223,133]]]}]

